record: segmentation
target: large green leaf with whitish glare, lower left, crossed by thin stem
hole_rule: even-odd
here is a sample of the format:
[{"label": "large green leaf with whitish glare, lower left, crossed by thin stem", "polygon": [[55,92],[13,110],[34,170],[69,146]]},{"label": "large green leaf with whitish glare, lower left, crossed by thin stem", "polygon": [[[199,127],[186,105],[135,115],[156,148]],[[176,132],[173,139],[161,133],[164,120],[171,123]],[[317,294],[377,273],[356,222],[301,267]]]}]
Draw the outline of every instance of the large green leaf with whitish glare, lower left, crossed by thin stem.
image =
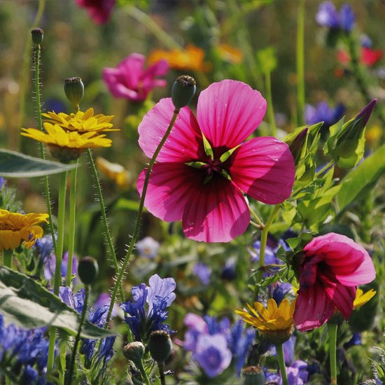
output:
[{"label": "large green leaf with whitish glare, lower left, crossed by thin stem", "polygon": [[[59,297],[29,276],[5,266],[0,266],[0,313],[8,324],[26,329],[56,326],[71,335],[76,335],[80,323],[80,314]],[[112,334],[85,321],[81,336],[104,338]]]}]

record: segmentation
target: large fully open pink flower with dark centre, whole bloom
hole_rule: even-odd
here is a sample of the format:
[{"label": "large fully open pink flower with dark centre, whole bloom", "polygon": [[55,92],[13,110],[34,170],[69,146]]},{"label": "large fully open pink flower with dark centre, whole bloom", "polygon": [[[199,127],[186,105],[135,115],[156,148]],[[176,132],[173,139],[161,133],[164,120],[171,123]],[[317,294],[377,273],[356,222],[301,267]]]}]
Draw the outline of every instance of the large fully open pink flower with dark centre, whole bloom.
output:
[{"label": "large fully open pink flower with dark centre, whole bloom", "polygon": [[[162,99],[139,125],[139,145],[151,157],[172,118],[172,100]],[[187,107],[153,167],[146,205],[164,221],[180,221],[186,237],[230,241],[250,223],[242,191],[267,204],[290,196],[295,166],[288,146],[272,137],[244,142],[261,123],[266,101],[235,80],[211,84],[198,99],[197,118]],[[204,149],[204,137],[213,155]],[[230,151],[229,153],[227,153]],[[145,172],[137,188],[143,190]]]}]

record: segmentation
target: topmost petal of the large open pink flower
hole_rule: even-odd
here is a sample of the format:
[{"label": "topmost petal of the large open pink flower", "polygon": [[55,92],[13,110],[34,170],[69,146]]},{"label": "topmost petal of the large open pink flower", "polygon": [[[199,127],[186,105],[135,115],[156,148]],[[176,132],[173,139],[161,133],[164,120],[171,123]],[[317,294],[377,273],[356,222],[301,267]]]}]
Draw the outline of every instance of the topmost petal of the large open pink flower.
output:
[{"label": "topmost petal of the large open pink flower", "polygon": [[262,122],[266,101],[249,85],[222,80],[200,93],[197,119],[213,147],[233,148],[244,141]]}]

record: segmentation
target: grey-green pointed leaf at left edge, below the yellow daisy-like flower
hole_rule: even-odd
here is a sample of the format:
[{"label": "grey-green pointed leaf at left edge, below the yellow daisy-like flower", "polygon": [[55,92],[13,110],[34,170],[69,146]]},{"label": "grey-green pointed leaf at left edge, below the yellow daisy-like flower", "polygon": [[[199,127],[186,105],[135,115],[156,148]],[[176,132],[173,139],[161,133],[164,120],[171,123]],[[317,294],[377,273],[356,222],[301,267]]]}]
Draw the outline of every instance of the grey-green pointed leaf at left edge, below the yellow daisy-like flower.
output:
[{"label": "grey-green pointed leaf at left edge, below the yellow daisy-like flower", "polygon": [[0,176],[4,178],[33,178],[59,174],[74,169],[76,164],[63,165],[51,160],[41,160],[15,151],[0,148]]}]

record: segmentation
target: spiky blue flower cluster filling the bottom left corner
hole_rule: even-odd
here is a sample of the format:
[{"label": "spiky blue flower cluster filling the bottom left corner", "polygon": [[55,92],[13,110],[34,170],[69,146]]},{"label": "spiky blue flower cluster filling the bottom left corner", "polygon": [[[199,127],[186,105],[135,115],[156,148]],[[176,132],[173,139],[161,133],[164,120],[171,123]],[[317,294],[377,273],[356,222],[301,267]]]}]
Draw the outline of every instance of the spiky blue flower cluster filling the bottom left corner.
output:
[{"label": "spiky blue flower cluster filling the bottom left corner", "polygon": [[18,373],[18,384],[46,384],[49,342],[44,332],[6,326],[0,314],[0,367]]}]

